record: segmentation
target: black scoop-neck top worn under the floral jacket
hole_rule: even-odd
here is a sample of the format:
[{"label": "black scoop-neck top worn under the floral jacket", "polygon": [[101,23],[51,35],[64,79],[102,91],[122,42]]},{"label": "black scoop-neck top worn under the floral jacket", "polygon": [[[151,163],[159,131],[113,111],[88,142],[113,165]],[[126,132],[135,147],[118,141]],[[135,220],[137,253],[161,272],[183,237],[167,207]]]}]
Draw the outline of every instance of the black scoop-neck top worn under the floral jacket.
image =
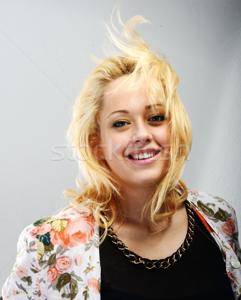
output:
[{"label": "black scoop-neck top worn under the floral jacket", "polygon": [[130,262],[107,237],[100,245],[101,300],[234,300],[220,249],[194,217],[193,243],[166,269]]}]

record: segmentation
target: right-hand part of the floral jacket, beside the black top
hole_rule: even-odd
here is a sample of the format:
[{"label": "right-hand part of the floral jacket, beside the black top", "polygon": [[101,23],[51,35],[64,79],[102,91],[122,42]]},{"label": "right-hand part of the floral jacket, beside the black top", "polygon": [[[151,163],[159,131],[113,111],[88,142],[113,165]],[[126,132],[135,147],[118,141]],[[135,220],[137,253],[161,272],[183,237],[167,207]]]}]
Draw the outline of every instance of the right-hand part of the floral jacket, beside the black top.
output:
[{"label": "right-hand part of the floral jacket, beside the black top", "polygon": [[235,210],[228,202],[204,192],[189,190],[189,202],[217,242],[236,299],[241,297],[241,249]]}]

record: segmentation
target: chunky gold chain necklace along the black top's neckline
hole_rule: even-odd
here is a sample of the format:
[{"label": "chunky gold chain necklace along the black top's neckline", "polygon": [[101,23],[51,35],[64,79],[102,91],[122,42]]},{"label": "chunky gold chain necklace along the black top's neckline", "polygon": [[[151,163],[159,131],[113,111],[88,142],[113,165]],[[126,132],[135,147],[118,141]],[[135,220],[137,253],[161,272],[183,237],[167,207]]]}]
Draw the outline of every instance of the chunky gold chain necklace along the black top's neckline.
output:
[{"label": "chunky gold chain necklace along the black top's neckline", "polygon": [[[108,227],[107,235],[111,238],[111,241],[116,244],[117,248],[126,256],[128,259],[140,266],[145,266],[148,269],[152,268],[168,268],[170,265],[173,265],[175,262],[177,262],[183,254],[186,252],[186,250],[189,248],[189,246],[193,242],[194,237],[194,213],[192,210],[191,204],[186,200],[185,202],[186,209],[188,212],[188,231],[186,238],[182,245],[177,249],[175,253],[173,253],[171,256],[165,258],[165,259],[148,259],[148,258],[142,258],[138,254],[132,252],[122,240],[118,238],[118,236],[114,233],[113,228],[110,226]],[[107,215],[102,212],[103,216],[106,218],[107,222],[109,221],[107,218]]]}]

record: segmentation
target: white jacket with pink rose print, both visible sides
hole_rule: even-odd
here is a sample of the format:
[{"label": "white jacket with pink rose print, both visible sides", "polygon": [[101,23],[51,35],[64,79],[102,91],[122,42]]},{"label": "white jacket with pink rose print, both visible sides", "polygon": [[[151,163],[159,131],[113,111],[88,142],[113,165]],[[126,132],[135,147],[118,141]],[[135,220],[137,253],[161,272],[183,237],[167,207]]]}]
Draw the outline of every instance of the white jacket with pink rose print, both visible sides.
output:
[{"label": "white jacket with pink rose print, both visible sides", "polygon": [[[188,201],[215,238],[239,299],[241,252],[234,209],[204,192],[190,190]],[[69,208],[26,227],[2,298],[100,300],[99,227],[93,217]]]}]

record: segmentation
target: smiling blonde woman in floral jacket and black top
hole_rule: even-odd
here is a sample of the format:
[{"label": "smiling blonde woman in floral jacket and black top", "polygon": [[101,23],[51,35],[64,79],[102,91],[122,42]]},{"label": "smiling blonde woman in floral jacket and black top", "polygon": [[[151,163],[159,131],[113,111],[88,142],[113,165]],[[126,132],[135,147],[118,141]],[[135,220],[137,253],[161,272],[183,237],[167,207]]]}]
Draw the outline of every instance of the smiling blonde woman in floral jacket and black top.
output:
[{"label": "smiling blonde woman in floral jacket and black top", "polygon": [[[192,133],[171,65],[131,18],[76,101],[68,136],[85,184],[21,233],[3,299],[239,299],[235,212],[181,180]],[[101,288],[100,288],[101,282]]]}]

